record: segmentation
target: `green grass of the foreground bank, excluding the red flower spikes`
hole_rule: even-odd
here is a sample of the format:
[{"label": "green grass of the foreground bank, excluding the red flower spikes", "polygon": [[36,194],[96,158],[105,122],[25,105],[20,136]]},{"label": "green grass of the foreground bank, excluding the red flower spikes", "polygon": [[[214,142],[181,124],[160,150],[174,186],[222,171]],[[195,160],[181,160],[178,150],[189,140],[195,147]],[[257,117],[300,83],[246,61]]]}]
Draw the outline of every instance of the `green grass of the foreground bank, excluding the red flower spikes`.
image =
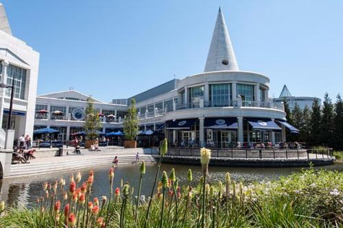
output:
[{"label": "green grass of the foreground bank, excluding the red flower spikes", "polygon": [[[137,170],[137,175],[139,175],[139,170]],[[224,181],[224,176],[222,181]],[[281,177],[277,181],[254,183],[250,186],[242,186],[237,183],[235,184],[235,191],[233,191],[233,181],[228,185],[230,187],[229,199],[225,197],[225,183],[222,189],[219,188],[219,183],[213,183],[215,190],[212,196],[206,192],[205,227],[314,228],[343,226],[343,173],[311,168],[287,177]],[[171,187],[168,188],[171,190]],[[69,186],[64,186],[62,189],[69,191]],[[176,214],[175,198],[172,199],[167,193],[165,205],[162,205],[161,183],[158,184],[146,227],[158,227],[163,206],[165,207],[163,227],[199,227],[199,216],[202,214],[200,213],[201,188],[200,186],[193,186],[189,205],[186,204],[188,190],[189,186],[181,186],[178,214]],[[49,193],[52,192],[52,189],[49,190]],[[43,190],[42,195],[45,195]],[[60,187],[58,187],[57,195],[60,195]],[[138,219],[135,222],[135,195],[136,193],[132,193],[132,188],[130,188],[126,207],[123,207],[124,203],[122,203],[123,192],[121,192],[120,197],[112,196],[113,200],[110,201],[110,207],[108,207],[108,201],[103,205],[101,198],[99,198],[99,207],[104,206],[104,210],[97,215],[88,213],[90,217],[88,227],[97,227],[96,220],[101,217],[106,218],[108,213],[107,227],[119,227],[121,215],[125,215],[123,216],[122,227],[143,227],[147,202],[139,203]],[[90,195],[89,199],[92,201],[93,196]],[[43,202],[45,205],[44,212],[41,212],[41,202],[32,210],[16,206],[8,207],[1,215],[0,227],[65,227],[62,208],[59,214],[60,220],[56,221],[56,214],[50,212],[50,201],[51,198],[49,197],[47,201]],[[62,200],[62,205],[68,202],[69,199],[66,202]],[[72,207],[71,212],[74,210]],[[86,213],[86,207],[80,206],[79,212],[81,219]],[[187,213],[184,219],[185,212]],[[85,225],[79,225],[79,227],[85,227]]]}]

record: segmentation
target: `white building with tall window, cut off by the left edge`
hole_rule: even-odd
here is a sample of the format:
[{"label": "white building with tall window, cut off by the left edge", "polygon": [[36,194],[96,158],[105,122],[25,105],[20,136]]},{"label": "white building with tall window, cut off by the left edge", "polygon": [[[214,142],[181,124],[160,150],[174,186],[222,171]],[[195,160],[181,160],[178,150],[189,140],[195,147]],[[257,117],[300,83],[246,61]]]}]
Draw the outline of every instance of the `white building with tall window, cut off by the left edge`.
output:
[{"label": "white building with tall window, cut off by the left edge", "polygon": [[[32,136],[36,104],[39,53],[12,35],[3,5],[0,3],[0,83],[12,85],[14,100],[11,128],[14,138]],[[0,88],[0,147],[3,148],[10,108],[10,88]]]}]

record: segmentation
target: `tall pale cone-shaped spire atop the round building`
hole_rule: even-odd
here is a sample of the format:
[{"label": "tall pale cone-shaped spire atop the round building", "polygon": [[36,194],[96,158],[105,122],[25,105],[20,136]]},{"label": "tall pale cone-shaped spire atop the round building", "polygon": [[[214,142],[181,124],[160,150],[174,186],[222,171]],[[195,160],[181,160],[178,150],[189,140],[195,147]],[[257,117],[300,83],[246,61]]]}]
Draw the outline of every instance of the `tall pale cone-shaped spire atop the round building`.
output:
[{"label": "tall pale cone-shaped spire atop the round building", "polygon": [[204,72],[239,71],[222,10],[219,8]]}]

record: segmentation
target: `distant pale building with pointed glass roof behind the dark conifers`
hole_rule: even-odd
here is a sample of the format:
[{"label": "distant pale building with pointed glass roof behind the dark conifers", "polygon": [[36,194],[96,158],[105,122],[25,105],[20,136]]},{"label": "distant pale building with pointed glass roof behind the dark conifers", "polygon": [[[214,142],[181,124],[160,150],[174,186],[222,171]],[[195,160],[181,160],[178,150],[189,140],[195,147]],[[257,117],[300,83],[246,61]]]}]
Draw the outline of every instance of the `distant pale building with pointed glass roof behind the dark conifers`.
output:
[{"label": "distant pale building with pointed glass roof behind the dark conifers", "polygon": [[299,105],[301,110],[303,110],[306,106],[311,109],[314,100],[318,100],[319,105],[322,103],[322,100],[316,97],[293,97],[286,85],[283,86],[279,98],[274,98],[273,102],[274,104],[281,105],[285,100],[289,106],[289,110],[291,111],[294,109],[296,104]]}]

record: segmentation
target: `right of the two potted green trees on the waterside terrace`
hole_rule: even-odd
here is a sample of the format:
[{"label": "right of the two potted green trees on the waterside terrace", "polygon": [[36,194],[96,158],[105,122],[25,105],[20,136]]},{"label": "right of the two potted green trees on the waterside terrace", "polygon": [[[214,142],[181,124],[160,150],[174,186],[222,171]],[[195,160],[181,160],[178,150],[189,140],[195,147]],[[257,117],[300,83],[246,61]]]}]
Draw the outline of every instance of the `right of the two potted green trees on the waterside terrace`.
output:
[{"label": "right of the two potted green trees on the waterside terrace", "polygon": [[134,99],[131,100],[131,106],[128,109],[128,115],[124,119],[123,123],[123,130],[125,134],[126,140],[134,140],[138,134],[138,117],[137,117],[137,110],[136,110],[136,101]]}]

